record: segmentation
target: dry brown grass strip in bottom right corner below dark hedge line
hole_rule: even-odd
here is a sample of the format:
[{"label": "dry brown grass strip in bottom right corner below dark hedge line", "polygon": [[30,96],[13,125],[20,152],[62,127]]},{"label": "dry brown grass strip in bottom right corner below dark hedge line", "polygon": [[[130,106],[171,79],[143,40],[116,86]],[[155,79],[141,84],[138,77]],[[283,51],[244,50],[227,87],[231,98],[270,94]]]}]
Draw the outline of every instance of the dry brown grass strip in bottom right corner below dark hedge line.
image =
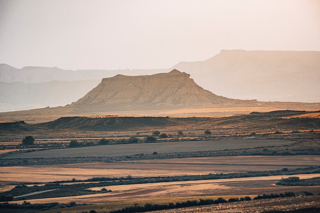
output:
[{"label": "dry brown grass strip in bottom right corner below dark hedge line", "polygon": [[[275,198],[257,201],[242,201],[236,203],[214,204],[207,206],[188,207],[153,211],[153,213],[252,213],[252,212],[273,212],[290,211],[306,208],[320,208],[319,196],[300,196],[288,198]],[[302,212],[302,211],[301,211]]]}]

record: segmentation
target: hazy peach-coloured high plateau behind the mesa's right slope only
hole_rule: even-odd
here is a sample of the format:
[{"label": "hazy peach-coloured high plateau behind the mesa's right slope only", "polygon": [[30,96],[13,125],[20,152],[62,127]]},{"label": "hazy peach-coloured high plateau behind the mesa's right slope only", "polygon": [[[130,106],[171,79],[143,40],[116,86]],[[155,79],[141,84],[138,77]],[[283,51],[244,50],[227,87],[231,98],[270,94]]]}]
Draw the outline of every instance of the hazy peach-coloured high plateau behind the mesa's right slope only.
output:
[{"label": "hazy peach-coloured high plateau behind the mesa's right slope only", "polygon": [[320,51],[221,50],[210,59],[180,62],[172,69],[230,98],[320,102]]}]

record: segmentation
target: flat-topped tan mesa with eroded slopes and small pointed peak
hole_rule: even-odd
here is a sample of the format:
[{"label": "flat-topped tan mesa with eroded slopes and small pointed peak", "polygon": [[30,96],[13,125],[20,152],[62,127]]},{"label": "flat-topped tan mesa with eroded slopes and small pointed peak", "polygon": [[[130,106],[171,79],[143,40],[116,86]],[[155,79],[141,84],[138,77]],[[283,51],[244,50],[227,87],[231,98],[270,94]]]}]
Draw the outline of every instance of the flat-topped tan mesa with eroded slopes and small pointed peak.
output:
[{"label": "flat-topped tan mesa with eroded slopes and small pointed peak", "polygon": [[116,75],[101,83],[72,105],[149,104],[207,105],[240,103],[242,100],[217,96],[197,85],[190,75],[173,69],[154,75]]}]

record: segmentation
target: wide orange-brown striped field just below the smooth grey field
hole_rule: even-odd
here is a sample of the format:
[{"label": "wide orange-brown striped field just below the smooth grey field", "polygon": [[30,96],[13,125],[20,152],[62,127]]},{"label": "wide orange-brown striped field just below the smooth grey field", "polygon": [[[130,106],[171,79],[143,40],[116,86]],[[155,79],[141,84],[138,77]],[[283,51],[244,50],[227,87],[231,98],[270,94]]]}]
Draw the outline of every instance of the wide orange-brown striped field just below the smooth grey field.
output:
[{"label": "wide orange-brown striped field just below the smooth grey field", "polygon": [[[92,177],[155,177],[320,166],[320,156],[223,156],[0,167],[0,182],[50,182]],[[28,181],[26,181],[28,180]]]}]

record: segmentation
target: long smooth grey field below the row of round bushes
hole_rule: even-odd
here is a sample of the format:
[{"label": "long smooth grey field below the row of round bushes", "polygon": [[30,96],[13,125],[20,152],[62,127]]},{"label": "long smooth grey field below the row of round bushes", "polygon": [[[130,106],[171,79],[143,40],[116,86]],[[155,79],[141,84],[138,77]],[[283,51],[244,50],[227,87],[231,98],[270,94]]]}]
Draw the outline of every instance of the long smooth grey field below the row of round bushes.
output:
[{"label": "long smooth grey field below the row of round bushes", "polygon": [[20,153],[4,158],[48,158],[48,157],[88,157],[88,156],[120,156],[133,154],[198,152],[224,149],[253,148],[258,146],[283,146],[292,143],[289,140],[259,140],[259,139],[226,139],[212,141],[179,141],[147,144],[119,144],[105,146],[87,146],[81,148],[53,149]]}]

